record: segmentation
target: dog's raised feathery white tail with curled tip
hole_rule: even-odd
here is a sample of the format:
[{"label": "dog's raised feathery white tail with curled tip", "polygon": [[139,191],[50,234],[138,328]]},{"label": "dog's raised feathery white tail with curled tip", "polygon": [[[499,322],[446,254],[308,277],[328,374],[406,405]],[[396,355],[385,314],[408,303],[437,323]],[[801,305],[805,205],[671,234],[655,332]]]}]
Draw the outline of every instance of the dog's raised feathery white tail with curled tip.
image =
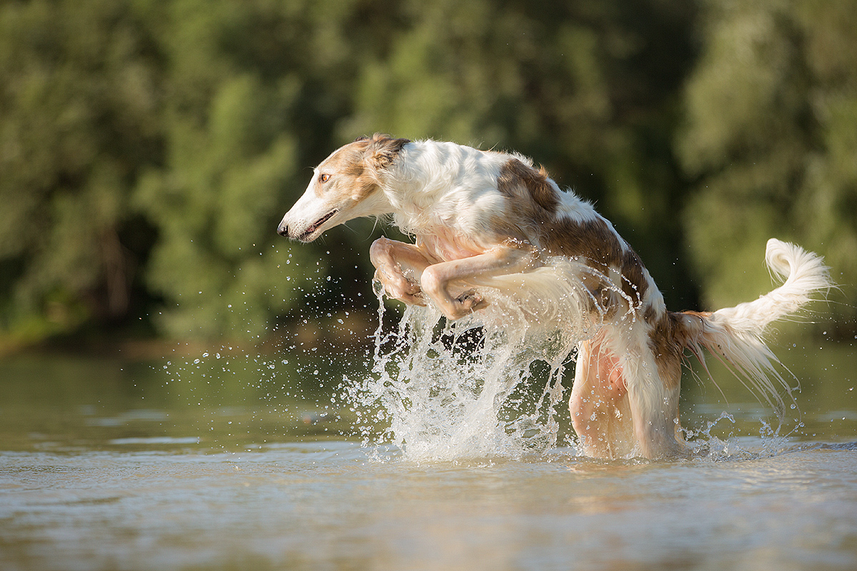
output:
[{"label": "dog's raised feathery white tail with curled tip", "polygon": [[830,289],[830,269],[818,255],[801,247],[771,238],[765,252],[770,271],[785,281],[758,300],[726,307],[712,313],[674,314],[683,325],[683,344],[702,360],[701,348],[722,360],[747,388],[764,398],[778,411],[783,409],[779,384],[788,395],[791,387],[782,378],[776,358],[764,342],[768,324],[788,317]]}]

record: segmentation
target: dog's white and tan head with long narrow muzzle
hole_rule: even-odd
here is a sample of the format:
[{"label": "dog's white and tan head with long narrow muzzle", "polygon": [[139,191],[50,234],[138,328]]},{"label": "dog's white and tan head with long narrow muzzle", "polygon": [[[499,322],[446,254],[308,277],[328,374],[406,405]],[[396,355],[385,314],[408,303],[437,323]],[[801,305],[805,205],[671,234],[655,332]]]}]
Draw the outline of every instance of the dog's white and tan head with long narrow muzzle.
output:
[{"label": "dog's white and tan head with long narrow muzzle", "polygon": [[354,218],[389,214],[391,206],[381,191],[382,179],[409,142],[375,134],[334,151],[315,167],[309,187],[285,213],[277,233],[309,242]]}]

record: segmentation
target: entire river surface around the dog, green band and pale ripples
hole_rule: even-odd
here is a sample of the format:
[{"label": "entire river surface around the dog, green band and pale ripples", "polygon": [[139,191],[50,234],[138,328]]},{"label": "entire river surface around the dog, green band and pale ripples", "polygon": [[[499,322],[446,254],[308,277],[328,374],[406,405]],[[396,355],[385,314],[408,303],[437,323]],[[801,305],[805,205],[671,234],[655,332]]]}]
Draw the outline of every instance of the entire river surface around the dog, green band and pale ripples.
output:
[{"label": "entire river surface around the dog, green band and pale ripples", "polygon": [[690,378],[680,461],[579,456],[561,411],[547,448],[409,455],[346,398],[371,354],[6,359],[0,569],[855,569],[854,343],[777,352],[800,422]]}]

